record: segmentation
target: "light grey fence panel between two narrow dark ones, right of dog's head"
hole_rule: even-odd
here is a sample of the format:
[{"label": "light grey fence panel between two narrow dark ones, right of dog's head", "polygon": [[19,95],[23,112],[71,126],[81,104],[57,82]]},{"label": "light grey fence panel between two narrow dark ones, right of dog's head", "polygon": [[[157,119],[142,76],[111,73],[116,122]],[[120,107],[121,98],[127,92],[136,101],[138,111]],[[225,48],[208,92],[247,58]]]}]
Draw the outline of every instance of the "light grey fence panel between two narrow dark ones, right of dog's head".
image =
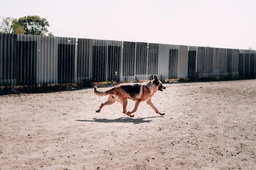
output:
[{"label": "light grey fence panel between two narrow dark ones, right of dog's head", "polygon": [[178,78],[188,77],[188,46],[179,45]]}]

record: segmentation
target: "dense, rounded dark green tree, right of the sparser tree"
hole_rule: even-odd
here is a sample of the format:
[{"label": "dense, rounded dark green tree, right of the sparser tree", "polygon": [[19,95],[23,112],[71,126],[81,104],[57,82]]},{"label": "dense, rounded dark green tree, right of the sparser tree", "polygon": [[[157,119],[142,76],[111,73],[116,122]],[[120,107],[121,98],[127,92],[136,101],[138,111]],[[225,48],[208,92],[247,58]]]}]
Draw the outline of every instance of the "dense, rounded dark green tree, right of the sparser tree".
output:
[{"label": "dense, rounded dark green tree, right of the sparser tree", "polygon": [[37,15],[21,17],[17,21],[20,26],[24,27],[25,34],[46,35],[48,32],[48,21]]}]

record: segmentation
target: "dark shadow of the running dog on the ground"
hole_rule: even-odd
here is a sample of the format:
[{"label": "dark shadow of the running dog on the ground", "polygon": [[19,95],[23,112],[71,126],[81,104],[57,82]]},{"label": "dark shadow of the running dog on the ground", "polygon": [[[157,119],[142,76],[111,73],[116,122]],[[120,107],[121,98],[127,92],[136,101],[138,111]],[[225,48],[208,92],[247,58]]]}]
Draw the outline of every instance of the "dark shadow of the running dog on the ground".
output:
[{"label": "dark shadow of the running dog on the ground", "polygon": [[133,124],[140,124],[140,123],[149,123],[152,120],[144,120],[156,117],[163,117],[163,116],[154,116],[154,117],[144,117],[144,118],[129,118],[129,117],[120,117],[118,119],[97,119],[93,118],[93,120],[76,120],[79,122],[99,122],[99,123],[133,123]]}]

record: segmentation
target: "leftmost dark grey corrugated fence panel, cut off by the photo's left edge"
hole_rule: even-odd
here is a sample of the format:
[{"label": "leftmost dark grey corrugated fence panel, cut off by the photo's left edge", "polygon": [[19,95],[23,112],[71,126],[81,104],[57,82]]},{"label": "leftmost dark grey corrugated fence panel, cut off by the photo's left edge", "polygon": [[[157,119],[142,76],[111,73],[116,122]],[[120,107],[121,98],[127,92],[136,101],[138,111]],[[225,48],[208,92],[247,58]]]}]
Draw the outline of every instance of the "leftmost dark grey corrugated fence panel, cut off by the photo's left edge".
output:
[{"label": "leftmost dark grey corrugated fence panel, cut off by the photo's left edge", "polygon": [[0,34],[0,86],[16,85],[15,34]]}]

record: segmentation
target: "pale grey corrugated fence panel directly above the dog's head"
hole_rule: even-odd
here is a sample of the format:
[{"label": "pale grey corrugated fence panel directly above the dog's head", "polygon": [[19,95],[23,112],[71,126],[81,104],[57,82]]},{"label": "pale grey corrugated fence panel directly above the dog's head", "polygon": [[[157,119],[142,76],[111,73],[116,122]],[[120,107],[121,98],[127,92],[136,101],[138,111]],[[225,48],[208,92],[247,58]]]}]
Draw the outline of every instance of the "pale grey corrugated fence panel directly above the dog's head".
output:
[{"label": "pale grey corrugated fence panel directly above the dog's head", "polygon": [[158,78],[169,79],[169,55],[170,45],[159,44],[159,64],[158,64]]}]

